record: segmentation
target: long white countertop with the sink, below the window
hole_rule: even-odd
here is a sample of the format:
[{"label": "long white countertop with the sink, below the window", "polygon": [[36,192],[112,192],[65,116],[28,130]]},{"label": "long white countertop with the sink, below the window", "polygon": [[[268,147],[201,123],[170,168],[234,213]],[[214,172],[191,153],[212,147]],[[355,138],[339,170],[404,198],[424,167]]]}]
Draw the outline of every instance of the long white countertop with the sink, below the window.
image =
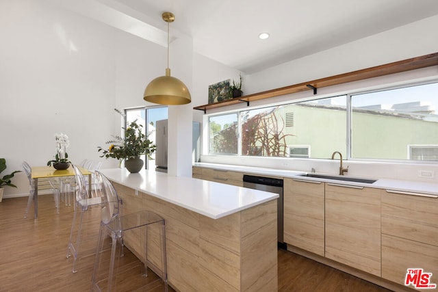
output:
[{"label": "long white countertop with the sink, below the window", "polygon": [[[310,177],[300,176],[300,174],[306,174],[307,172],[300,172],[294,170],[274,170],[272,168],[255,168],[250,166],[226,165],[226,164],[218,164],[218,163],[194,163],[194,166],[203,167],[203,168],[215,168],[220,170],[231,170],[236,172],[244,172],[247,174],[259,174],[261,176],[266,175],[266,176],[276,176],[280,178],[281,177],[299,178],[305,181],[323,181],[326,183],[337,183],[341,185],[374,187],[378,189],[388,189],[391,191],[402,191],[402,192],[408,192],[413,194],[419,193],[419,194],[430,194],[433,196],[438,196],[438,183],[404,181],[404,180],[389,179],[389,178],[374,178],[377,180],[375,183],[356,183],[351,181],[337,181],[333,179],[310,178]],[[333,174],[329,174],[329,175],[333,175]]]}]

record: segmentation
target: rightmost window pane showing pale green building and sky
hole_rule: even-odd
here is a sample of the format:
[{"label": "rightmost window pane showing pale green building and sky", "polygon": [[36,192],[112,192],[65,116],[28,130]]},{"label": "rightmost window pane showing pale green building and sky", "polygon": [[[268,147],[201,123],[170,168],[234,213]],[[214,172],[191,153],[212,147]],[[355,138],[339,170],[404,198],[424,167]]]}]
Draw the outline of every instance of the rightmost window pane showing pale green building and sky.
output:
[{"label": "rightmost window pane showing pale green building and sky", "polygon": [[438,83],[351,98],[352,157],[438,160]]}]

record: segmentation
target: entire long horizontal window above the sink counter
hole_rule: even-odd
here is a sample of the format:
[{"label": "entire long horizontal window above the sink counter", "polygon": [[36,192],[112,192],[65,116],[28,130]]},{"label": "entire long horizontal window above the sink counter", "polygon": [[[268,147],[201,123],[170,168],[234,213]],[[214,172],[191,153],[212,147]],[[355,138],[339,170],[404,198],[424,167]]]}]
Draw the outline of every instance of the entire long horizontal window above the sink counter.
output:
[{"label": "entire long horizontal window above the sink counter", "polygon": [[438,161],[437,109],[428,83],[210,116],[209,154]]}]

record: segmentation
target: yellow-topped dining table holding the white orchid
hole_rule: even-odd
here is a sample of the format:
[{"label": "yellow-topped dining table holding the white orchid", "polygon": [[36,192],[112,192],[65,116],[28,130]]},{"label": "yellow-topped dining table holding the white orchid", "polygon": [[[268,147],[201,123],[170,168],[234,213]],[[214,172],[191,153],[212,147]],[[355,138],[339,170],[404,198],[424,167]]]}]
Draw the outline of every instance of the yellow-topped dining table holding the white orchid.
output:
[{"label": "yellow-topped dining table holding the white orchid", "polygon": [[[88,194],[91,194],[91,172],[86,168],[78,166],[83,175],[88,175]],[[35,194],[34,194],[34,213],[35,218],[38,218],[38,179],[39,178],[54,178],[62,176],[75,176],[73,168],[66,170],[55,170],[53,166],[33,166],[31,167],[31,178],[34,180]]]}]

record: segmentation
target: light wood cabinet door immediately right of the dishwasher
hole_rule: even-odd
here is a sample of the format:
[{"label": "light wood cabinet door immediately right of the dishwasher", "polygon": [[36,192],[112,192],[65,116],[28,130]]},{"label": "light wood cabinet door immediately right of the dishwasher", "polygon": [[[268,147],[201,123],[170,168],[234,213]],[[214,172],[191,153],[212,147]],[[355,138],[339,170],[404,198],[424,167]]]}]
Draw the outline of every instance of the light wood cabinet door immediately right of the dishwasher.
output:
[{"label": "light wood cabinet door immediately right of the dishwasher", "polygon": [[324,183],[284,179],[284,241],[324,256]]}]

